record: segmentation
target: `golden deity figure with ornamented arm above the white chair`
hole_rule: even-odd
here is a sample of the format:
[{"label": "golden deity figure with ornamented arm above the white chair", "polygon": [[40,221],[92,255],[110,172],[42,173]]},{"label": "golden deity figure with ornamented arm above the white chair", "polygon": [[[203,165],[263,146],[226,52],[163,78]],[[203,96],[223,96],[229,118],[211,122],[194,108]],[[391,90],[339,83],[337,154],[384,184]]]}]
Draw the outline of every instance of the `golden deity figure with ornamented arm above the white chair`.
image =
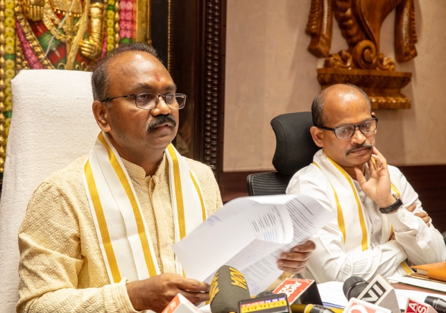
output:
[{"label": "golden deity figure with ornamented arm above the white chair", "polygon": [[[58,41],[65,44],[65,55],[60,56],[60,60],[66,59],[65,64],[58,60],[58,69],[87,69],[89,63],[92,63],[91,67],[100,58],[105,31],[105,3],[102,0],[93,3],[89,0],[15,0],[15,12],[26,40],[44,69],[56,67],[48,53],[55,49]],[[39,22],[46,28],[42,32],[48,30],[53,36],[49,42],[45,38],[39,40],[35,35],[33,28],[43,28]],[[47,46],[45,49],[42,42]],[[78,60],[78,52],[91,61]]]}]

